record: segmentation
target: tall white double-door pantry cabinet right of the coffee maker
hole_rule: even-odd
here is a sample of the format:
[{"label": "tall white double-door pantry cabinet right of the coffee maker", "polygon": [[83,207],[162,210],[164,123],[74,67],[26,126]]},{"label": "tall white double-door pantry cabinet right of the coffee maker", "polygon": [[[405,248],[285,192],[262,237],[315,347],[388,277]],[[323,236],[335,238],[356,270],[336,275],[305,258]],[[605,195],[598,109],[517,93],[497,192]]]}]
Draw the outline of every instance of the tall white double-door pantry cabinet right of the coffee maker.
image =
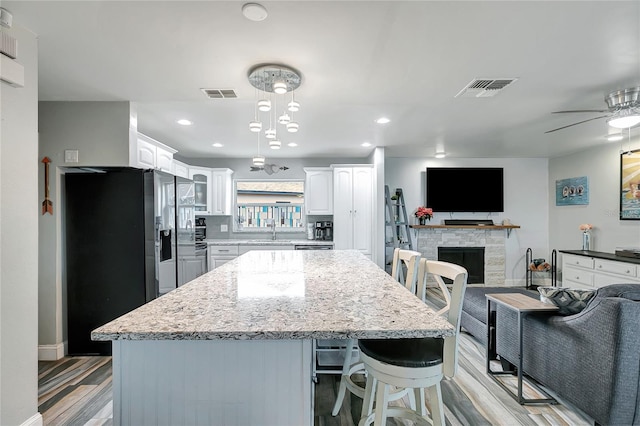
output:
[{"label": "tall white double-door pantry cabinet right of the coffee maker", "polygon": [[336,250],[357,249],[372,257],[373,167],[333,168],[333,241]]}]

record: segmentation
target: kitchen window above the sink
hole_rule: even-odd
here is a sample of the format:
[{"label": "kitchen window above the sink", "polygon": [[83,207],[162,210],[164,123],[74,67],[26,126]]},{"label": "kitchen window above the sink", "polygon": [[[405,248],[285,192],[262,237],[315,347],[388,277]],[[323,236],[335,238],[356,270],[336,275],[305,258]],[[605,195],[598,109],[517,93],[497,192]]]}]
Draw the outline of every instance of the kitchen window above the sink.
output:
[{"label": "kitchen window above the sink", "polygon": [[301,231],[304,227],[303,180],[236,180],[236,231],[276,229]]}]

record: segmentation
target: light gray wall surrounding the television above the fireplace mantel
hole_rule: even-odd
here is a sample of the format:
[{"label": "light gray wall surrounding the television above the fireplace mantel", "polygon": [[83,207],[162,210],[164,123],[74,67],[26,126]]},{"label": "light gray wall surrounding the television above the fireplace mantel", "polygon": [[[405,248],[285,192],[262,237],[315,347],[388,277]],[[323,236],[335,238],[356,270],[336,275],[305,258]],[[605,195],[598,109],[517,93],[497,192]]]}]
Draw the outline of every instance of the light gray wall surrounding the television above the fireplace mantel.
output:
[{"label": "light gray wall surrounding the television above the fireplace mantel", "polygon": [[[492,219],[501,223],[511,220],[520,229],[511,232],[506,239],[506,285],[524,285],[525,252],[531,247],[534,257],[550,259],[549,211],[548,211],[548,160],[546,158],[387,158],[385,183],[393,191],[402,188],[407,214],[425,205],[425,170],[427,167],[503,167],[504,213],[441,213],[434,212],[431,223],[444,219]],[[481,186],[468,183],[464,191],[482,191]],[[428,206],[427,206],[428,207]],[[414,231],[415,232],[415,231]],[[418,232],[428,232],[420,230]],[[414,238],[415,243],[415,238]]]}]

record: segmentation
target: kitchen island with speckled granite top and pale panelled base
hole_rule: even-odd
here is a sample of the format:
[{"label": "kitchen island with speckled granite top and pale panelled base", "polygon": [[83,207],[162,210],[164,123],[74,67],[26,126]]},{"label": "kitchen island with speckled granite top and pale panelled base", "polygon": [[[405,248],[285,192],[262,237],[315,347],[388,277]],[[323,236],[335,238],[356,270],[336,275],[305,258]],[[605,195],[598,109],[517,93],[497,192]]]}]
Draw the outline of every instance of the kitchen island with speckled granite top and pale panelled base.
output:
[{"label": "kitchen island with speckled granite top and pale panelled base", "polygon": [[313,339],[453,327],[356,250],[251,251],[105,324],[115,424],[311,425]]}]

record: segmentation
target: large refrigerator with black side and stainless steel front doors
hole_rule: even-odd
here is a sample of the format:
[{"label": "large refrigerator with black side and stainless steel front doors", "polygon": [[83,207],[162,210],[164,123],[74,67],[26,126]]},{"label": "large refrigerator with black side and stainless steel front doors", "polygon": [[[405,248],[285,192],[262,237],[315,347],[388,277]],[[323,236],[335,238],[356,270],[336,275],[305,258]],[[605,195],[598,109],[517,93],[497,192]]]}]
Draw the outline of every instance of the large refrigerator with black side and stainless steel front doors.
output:
[{"label": "large refrigerator with black side and stainless steel front doors", "polygon": [[[195,250],[193,181],[156,170],[65,174],[69,355],[111,355],[91,331],[182,284]],[[193,245],[193,247],[192,247]]]}]

